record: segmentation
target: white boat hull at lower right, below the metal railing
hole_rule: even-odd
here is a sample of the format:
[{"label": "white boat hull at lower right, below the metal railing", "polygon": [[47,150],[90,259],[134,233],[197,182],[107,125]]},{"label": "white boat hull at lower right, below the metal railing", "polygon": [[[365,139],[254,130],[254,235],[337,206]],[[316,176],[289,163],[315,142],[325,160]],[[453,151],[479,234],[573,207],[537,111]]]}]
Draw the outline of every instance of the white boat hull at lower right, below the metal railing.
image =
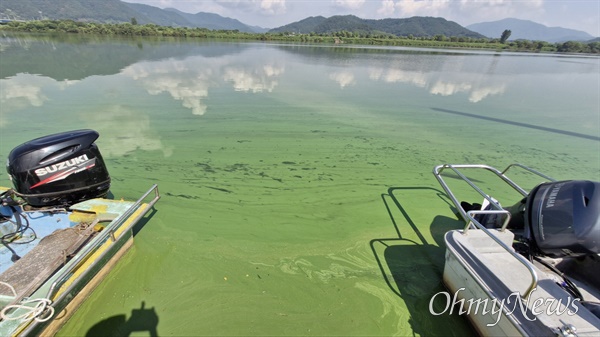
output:
[{"label": "white boat hull at lower right, below the metal railing", "polygon": [[[510,243],[512,233],[495,231]],[[537,287],[523,298],[531,281],[526,269],[481,230],[446,234],[443,280],[454,313],[466,315],[482,336],[556,336],[571,327],[576,336],[600,336],[600,319],[557,285],[555,275],[532,266]],[[594,294],[586,298],[597,301]]]}]

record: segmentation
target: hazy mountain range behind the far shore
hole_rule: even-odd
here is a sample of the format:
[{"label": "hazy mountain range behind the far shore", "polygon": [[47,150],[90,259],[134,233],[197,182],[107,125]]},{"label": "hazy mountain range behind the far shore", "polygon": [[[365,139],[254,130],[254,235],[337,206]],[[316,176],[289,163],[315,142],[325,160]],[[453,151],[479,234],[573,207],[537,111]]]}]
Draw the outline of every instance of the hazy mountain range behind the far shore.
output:
[{"label": "hazy mountain range behind the far shore", "polygon": [[238,30],[248,33],[331,33],[338,31],[396,36],[457,36],[471,38],[500,38],[511,30],[510,40],[527,39],[547,42],[588,41],[593,37],[585,32],[544,25],[517,19],[483,22],[463,27],[444,18],[412,17],[405,19],[361,19],[354,15],[309,17],[288,25],[267,29],[246,25],[236,19],[214,13],[190,14],[174,8],[160,9],[120,0],[2,0],[0,18],[39,20],[71,19],[102,23],[132,22],[172,27],[201,27],[211,30]]}]

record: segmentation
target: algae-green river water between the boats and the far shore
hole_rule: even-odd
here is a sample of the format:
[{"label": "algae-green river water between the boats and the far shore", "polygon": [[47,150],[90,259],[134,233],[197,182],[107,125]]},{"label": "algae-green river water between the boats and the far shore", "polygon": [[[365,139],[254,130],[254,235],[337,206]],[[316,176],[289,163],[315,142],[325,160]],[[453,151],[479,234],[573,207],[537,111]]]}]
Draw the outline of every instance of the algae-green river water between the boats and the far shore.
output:
[{"label": "algae-green river water between the boats and the far shore", "polygon": [[600,180],[599,92],[589,56],[5,35],[0,153],[91,128],[115,198],[159,184],[59,335],[463,336],[432,168]]}]

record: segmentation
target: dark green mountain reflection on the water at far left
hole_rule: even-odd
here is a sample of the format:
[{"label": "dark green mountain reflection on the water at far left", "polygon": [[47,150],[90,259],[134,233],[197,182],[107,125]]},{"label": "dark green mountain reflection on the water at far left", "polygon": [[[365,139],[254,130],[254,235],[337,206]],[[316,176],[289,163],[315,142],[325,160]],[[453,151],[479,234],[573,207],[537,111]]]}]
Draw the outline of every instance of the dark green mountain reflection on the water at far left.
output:
[{"label": "dark green mountain reflection on the water at far left", "polygon": [[[210,46],[210,48],[206,48]],[[43,36],[26,39],[0,36],[0,78],[20,73],[38,74],[57,81],[81,80],[92,75],[113,75],[142,60],[181,59],[189,55],[221,57],[239,53],[243,44],[177,39],[126,39],[114,37]],[[23,51],[28,57],[23,58]]]}]

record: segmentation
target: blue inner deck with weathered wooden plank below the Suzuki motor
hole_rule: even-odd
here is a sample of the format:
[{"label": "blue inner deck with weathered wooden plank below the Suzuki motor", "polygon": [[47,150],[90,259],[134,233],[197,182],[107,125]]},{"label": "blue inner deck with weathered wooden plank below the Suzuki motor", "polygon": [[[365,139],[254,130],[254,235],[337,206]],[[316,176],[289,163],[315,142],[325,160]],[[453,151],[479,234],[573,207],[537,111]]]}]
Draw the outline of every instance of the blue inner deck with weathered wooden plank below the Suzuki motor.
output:
[{"label": "blue inner deck with weathered wooden plank below the Suzuki motor", "polygon": [[0,235],[10,237],[0,247],[0,300],[2,305],[30,296],[81,247],[103,229],[103,221],[123,214],[133,202],[92,199],[71,210],[3,210]]}]

